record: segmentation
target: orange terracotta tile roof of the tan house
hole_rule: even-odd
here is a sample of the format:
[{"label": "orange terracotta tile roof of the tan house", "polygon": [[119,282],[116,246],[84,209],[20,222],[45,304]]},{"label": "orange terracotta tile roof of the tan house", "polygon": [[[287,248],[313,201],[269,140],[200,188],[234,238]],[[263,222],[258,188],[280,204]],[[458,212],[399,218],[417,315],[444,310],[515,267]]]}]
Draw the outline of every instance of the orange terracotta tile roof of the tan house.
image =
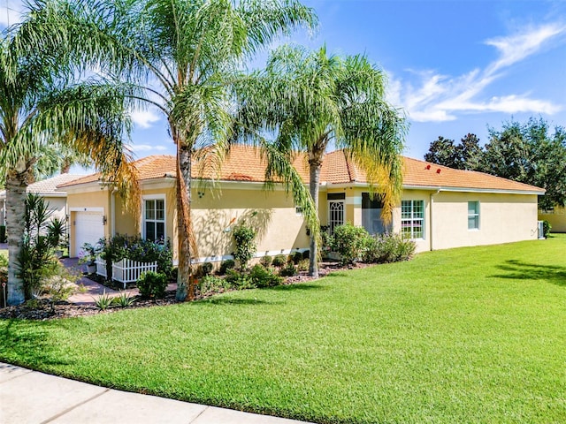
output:
[{"label": "orange terracotta tile roof of the tan house", "polygon": [[[517,183],[505,178],[493,177],[482,172],[453,170],[446,166],[426,163],[417,159],[403,157],[403,186],[438,187],[452,189],[479,189],[494,191],[516,191],[544,193],[535,186]],[[203,165],[204,163],[204,165]],[[172,155],[152,155],[134,162],[142,181],[175,176],[175,158]],[[294,167],[303,181],[309,181],[309,170],[305,155],[297,155]],[[193,163],[193,178],[218,178],[224,181],[264,182],[265,163],[256,148],[234,146],[221,163],[218,171],[216,162],[210,159]],[[100,174],[76,179],[59,187],[75,186],[97,181]],[[321,183],[348,184],[366,182],[365,174],[348,160],[343,150],[325,155],[321,170]]]}]

